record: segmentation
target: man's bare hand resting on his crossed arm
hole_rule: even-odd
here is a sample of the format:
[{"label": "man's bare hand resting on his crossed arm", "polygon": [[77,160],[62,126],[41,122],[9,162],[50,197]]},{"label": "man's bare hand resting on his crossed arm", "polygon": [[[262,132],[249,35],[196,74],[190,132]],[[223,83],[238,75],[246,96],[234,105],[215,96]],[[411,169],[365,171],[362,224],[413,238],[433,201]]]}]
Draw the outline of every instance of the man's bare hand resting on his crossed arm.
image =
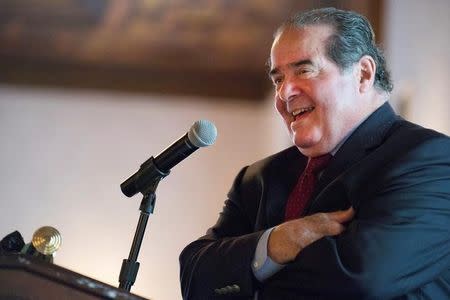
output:
[{"label": "man's bare hand resting on his crossed arm", "polygon": [[282,223],[270,233],[267,253],[276,263],[288,263],[303,248],[318,239],[343,232],[343,224],[353,219],[354,215],[355,211],[350,207],[347,210],[317,213]]}]

